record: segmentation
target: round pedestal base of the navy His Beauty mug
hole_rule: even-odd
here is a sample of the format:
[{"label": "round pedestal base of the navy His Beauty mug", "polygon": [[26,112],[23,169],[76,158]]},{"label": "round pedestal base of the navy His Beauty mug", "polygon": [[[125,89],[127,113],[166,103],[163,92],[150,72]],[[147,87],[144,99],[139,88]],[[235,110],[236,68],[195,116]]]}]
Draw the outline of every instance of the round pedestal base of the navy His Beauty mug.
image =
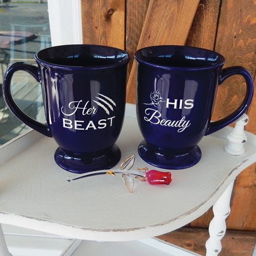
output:
[{"label": "round pedestal base of the navy His Beauty mug", "polygon": [[198,145],[190,148],[187,152],[177,152],[177,154],[149,145],[145,140],[139,144],[138,153],[145,162],[163,169],[191,167],[199,162],[202,155]]}]

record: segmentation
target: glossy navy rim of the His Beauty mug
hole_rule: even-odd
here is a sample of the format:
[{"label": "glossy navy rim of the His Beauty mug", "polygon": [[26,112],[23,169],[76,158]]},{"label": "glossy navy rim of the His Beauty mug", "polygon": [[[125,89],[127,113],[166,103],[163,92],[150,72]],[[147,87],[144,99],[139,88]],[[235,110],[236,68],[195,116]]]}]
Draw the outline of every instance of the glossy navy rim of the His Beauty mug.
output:
[{"label": "glossy navy rim of the His Beauty mug", "polygon": [[[152,49],[152,48],[160,48],[160,47],[180,48],[180,49],[198,49],[198,50],[201,50],[201,51],[204,51],[204,52],[217,54],[220,57],[220,60],[219,60],[219,62],[217,62],[215,64],[205,65],[205,66],[202,66],[202,67],[178,67],[178,66],[166,66],[166,65],[157,64],[157,63],[154,63],[154,62],[151,62],[151,61],[144,60],[143,58],[138,56],[141,53],[142,50]],[[184,71],[215,69],[215,68],[223,66],[224,63],[225,63],[225,57],[223,55],[221,55],[220,53],[218,53],[218,52],[211,51],[211,50],[204,49],[204,48],[200,48],[200,47],[179,46],[179,45],[158,45],[158,46],[144,47],[144,48],[141,48],[141,49],[137,50],[134,53],[134,58],[137,62],[144,63],[145,65],[148,65],[148,66],[151,66],[151,67],[162,68],[162,69],[167,69],[167,70],[184,70]]]}]

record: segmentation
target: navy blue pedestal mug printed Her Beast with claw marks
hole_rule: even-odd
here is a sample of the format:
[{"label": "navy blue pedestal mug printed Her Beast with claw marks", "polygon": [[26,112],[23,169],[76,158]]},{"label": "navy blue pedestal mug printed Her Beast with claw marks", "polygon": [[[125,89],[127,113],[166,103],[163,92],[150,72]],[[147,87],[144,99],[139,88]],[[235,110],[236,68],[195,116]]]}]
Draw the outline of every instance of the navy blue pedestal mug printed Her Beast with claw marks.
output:
[{"label": "navy blue pedestal mug printed Her Beast with claw marks", "polygon": [[[129,54],[113,47],[66,45],[41,50],[35,60],[38,67],[16,62],[6,72],[3,94],[12,113],[55,139],[55,161],[63,169],[85,173],[116,165]],[[14,102],[10,84],[18,70],[41,83],[46,124],[27,116]]]}]

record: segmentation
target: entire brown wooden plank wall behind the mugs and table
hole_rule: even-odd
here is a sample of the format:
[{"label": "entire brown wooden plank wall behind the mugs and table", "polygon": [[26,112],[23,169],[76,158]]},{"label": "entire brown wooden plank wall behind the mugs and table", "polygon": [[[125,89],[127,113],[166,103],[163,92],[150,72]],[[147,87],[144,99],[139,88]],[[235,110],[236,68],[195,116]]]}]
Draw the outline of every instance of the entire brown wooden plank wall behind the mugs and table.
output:
[{"label": "entire brown wooden plank wall behind the mugs and table", "polygon": [[[127,102],[135,103],[133,53],[150,45],[188,45],[215,50],[225,67],[244,66],[255,78],[256,3],[253,0],[81,0],[84,44],[126,50],[132,56]],[[245,84],[231,77],[219,87],[212,120],[228,115],[243,99]],[[256,94],[255,94],[256,95]],[[256,96],[247,112],[247,131],[256,133]],[[255,165],[237,178],[231,200],[229,229],[256,229]],[[211,209],[191,227],[207,227]]]}]

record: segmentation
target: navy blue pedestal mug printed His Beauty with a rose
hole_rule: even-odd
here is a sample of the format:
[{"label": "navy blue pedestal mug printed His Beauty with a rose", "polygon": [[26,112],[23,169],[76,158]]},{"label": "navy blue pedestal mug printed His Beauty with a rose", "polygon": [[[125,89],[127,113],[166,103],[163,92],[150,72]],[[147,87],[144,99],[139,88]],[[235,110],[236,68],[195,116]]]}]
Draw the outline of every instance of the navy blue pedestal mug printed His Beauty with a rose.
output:
[{"label": "navy blue pedestal mug printed His Beauty with a rose", "polygon": [[[153,46],[138,50],[137,119],[144,141],[140,157],[154,166],[182,169],[201,158],[197,145],[239,118],[253,95],[253,81],[243,67],[222,69],[224,57],[206,49]],[[246,95],[229,116],[210,122],[217,87],[231,75],[242,75]],[[231,88],[230,88],[231,90]]]}]

